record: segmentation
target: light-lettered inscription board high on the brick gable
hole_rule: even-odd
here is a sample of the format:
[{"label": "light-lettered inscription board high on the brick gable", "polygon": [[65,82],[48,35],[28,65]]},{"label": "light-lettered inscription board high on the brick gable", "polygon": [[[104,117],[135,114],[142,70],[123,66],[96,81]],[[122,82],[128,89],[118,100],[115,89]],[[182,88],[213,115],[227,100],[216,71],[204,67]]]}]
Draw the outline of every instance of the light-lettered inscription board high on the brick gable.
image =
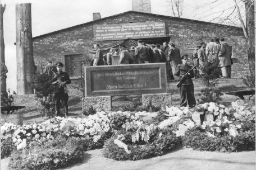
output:
[{"label": "light-lettered inscription board high on the brick gable", "polygon": [[141,39],[148,37],[164,37],[166,29],[164,22],[120,23],[111,25],[94,25],[95,41]]}]

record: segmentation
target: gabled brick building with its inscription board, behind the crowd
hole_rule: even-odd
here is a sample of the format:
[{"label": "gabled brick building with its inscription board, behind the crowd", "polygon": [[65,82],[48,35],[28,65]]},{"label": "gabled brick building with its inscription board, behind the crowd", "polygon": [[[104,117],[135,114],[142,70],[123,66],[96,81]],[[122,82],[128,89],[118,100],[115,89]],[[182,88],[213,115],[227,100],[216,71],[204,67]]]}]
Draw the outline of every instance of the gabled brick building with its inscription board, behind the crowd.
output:
[{"label": "gabled brick building with its inscription board, behind the crowd", "polygon": [[[100,44],[106,54],[121,44],[136,46],[138,39],[146,44],[175,43],[182,54],[189,54],[202,41],[224,37],[231,46],[231,78],[244,77],[249,72],[248,55],[243,30],[240,27],[190,20],[149,12],[127,11],[100,18],[93,13],[93,21],[33,37],[34,61],[37,66],[48,61],[62,62],[72,79],[81,76],[81,65],[89,65],[95,53],[93,45]],[[73,81],[76,82],[76,81]]]}]

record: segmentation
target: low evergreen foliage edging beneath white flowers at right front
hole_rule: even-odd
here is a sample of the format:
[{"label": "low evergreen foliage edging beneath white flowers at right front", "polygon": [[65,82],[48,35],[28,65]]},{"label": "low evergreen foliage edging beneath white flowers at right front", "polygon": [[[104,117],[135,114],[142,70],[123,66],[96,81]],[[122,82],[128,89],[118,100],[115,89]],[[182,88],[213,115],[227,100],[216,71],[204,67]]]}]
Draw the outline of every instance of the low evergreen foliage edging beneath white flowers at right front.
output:
[{"label": "low evergreen foliage edging beneath white flowers at right front", "polygon": [[255,150],[255,129],[244,131],[237,136],[223,135],[216,138],[209,137],[203,129],[193,128],[185,132],[182,137],[183,145],[195,150],[238,152]]}]

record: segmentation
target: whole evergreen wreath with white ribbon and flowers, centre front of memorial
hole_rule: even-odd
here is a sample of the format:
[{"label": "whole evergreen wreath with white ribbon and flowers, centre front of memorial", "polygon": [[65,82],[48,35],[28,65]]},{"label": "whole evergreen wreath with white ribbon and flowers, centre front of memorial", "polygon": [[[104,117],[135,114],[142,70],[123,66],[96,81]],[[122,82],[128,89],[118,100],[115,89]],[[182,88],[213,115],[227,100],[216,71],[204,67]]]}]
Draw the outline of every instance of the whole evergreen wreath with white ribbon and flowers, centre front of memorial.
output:
[{"label": "whole evergreen wreath with white ribbon and flowers, centre front of memorial", "polygon": [[[106,141],[103,150],[104,157],[115,160],[147,159],[161,156],[182,144],[181,138],[176,136],[173,128],[156,128],[150,135],[147,133],[136,134],[135,138],[138,140],[134,139],[132,135],[134,134],[129,131],[117,131],[112,138]],[[117,141],[119,145],[117,145]]]}]

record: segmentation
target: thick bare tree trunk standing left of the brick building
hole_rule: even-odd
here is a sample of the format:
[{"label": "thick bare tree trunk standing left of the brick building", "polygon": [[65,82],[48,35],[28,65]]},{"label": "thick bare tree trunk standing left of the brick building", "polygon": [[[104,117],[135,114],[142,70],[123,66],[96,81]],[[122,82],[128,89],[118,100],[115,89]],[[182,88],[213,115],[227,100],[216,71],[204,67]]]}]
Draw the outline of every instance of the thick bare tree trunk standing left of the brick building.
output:
[{"label": "thick bare tree trunk standing left of the brick building", "polygon": [[33,94],[35,72],[31,31],[31,3],[16,4],[17,92]]}]

